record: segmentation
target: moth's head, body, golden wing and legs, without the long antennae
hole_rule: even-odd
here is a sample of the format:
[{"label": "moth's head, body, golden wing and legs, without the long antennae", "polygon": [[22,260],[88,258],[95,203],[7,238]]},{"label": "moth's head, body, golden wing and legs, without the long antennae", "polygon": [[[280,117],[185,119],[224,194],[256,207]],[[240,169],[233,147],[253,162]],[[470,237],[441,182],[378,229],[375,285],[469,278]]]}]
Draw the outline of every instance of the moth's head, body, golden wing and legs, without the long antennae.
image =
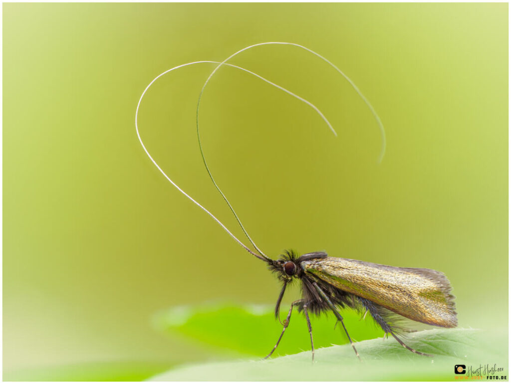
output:
[{"label": "moth's head, body, golden wing and legs, without the long antennae", "polygon": [[286,287],[294,279],[301,282],[302,298],[293,301],[284,329],[277,343],[265,357],[271,356],[289,325],[291,311],[303,312],[309,328],[314,359],[314,342],[309,311],[316,315],[332,311],[342,324],[357,357],[355,345],[344,325],[339,308],[350,307],[367,312],[387,334],[390,333],[403,347],[413,353],[432,356],[407,346],[396,333],[403,331],[394,324],[396,315],[440,327],[457,325],[454,296],[450,294],[449,280],[442,272],[423,268],[399,268],[366,261],[329,257],[324,252],[297,256],[286,251],[282,258],[264,258],[268,268],[283,282],[275,306],[275,317],[280,318],[280,306]]}]

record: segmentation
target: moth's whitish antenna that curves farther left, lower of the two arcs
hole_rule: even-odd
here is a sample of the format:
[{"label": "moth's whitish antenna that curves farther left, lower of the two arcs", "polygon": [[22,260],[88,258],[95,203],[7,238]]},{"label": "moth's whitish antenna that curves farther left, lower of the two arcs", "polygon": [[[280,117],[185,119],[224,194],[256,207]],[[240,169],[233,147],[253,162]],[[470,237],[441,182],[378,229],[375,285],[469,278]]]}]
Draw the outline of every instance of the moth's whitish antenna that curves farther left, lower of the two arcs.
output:
[{"label": "moth's whitish antenna that curves farther left, lower of the two arcs", "polygon": [[[208,215],[210,215],[210,217],[215,220],[222,228],[225,232],[227,232],[240,246],[242,246],[247,252],[249,252],[250,254],[254,255],[255,257],[261,259],[261,260],[264,260],[264,261],[271,261],[271,259],[262,254],[262,255],[258,255],[257,253],[254,253],[250,250],[250,248],[248,248],[245,244],[243,244],[232,232],[230,232],[227,227],[225,225],[222,224],[222,222],[220,222],[220,220],[218,220],[215,215],[213,213],[211,213],[210,211],[208,211],[206,208],[204,208],[199,202],[197,202],[194,198],[192,198],[190,195],[188,195],[187,193],[185,193],[184,190],[182,190],[169,176],[167,176],[167,174],[161,169],[161,167],[158,165],[158,163],[154,160],[154,158],[151,156],[151,154],[149,153],[149,151],[147,150],[146,146],[144,145],[144,142],[142,141],[142,137],[140,135],[140,131],[138,130],[138,111],[140,109],[140,105],[142,103],[142,99],[144,98],[144,95],[146,94],[146,92],[148,91],[148,89],[151,87],[151,85],[153,85],[153,83],[158,80],[160,77],[168,74],[169,72],[173,71],[174,69],[178,69],[178,68],[181,68],[181,67],[185,67],[185,66],[188,66],[188,65],[193,65],[193,64],[200,64],[200,63],[213,63],[213,64],[220,64],[220,62],[218,61],[209,61],[209,60],[203,60],[203,61],[194,61],[194,62],[190,62],[190,63],[186,63],[186,64],[181,64],[181,65],[178,65],[178,66],[175,66],[171,69],[168,69],[164,72],[162,72],[161,74],[159,74],[158,76],[156,76],[150,83],[149,85],[144,89],[144,92],[142,92],[142,95],[140,97],[140,99],[138,100],[138,104],[136,106],[136,111],[135,111],[135,129],[136,129],[136,135],[138,137],[138,141],[140,141],[141,145],[142,145],[142,148],[144,149],[144,152],[146,153],[146,155],[149,157],[149,159],[152,161],[152,163],[156,166],[156,168],[158,169],[158,171],[165,176],[165,178],[172,184],[174,185],[174,187],[177,188],[177,190],[180,191],[180,193],[182,193],[185,197],[187,197],[188,199],[190,199],[195,205],[197,205],[199,208],[201,208],[204,212],[206,212]],[[253,75],[265,82],[267,82],[268,84],[270,85],[273,85],[287,93],[289,93],[290,95],[292,95],[293,97],[297,98],[298,100],[306,103],[307,105],[309,105],[311,108],[313,108],[323,119],[324,121],[327,122],[327,124],[329,126],[330,125],[330,122],[327,120],[326,117],[324,117],[324,115],[321,113],[321,111],[312,103],[310,103],[309,101],[303,99],[303,98],[300,98],[298,95],[294,94],[293,92],[287,90],[286,88],[284,87],[281,87],[280,85],[277,85],[275,83],[272,83],[271,81],[263,78],[262,76],[259,76],[258,74],[255,74],[253,73],[252,71],[248,70],[248,69],[245,69],[245,68],[242,68],[240,66],[237,66],[237,65],[234,65],[234,64],[228,64],[228,63],[224,63],[224,65],[227,65],[229,67],[233,67],[233,68],[237,68],[237,69],[240,69],[240,70],[243,70],[245,71],[246,73],[250,74],[250,75]],[[220,191],[221,193],[221,191]],[[223,195],[223,194],[222,194]],[[230,207],[230,204],[229,204],[229,207]],[[232,207],[231,207],[232,209]]]}]

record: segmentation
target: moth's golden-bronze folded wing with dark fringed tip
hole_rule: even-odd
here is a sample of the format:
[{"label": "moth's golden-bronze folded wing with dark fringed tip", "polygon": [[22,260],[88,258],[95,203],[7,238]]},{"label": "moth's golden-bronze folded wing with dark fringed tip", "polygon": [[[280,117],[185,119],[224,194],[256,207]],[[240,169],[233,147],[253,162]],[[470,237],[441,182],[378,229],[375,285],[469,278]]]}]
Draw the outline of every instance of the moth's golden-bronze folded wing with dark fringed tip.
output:
[{"label": "moth's golden-bronze folded wing with dark fringed tip", "polygon": [[451,285],[442,273],[326,257],[300,262],[312,279],[370,300],[394,313],[442,327],[457,325]]}]

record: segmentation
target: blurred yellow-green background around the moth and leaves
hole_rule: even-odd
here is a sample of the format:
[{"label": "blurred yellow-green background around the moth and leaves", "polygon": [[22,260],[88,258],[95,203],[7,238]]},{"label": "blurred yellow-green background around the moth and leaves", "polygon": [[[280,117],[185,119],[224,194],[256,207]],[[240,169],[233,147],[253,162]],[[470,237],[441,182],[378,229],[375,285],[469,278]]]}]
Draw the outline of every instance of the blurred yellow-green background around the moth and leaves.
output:
[{"label": "blurred yellow-green background around the moth and leaves", "polygon": [[[201,136],[255,242],[274,257],[326,250],[443,271],[461,326],[507,328],[507,8],[4,4],[4,378],[215,358],[155,330],[154,314],[274,303],[274,276],[158,173],[134,129],[156,75],[264,41],[303,44],[338,65],[380,114],[387,152],[377,164],[373,116],[320,59],[291,46],[237,56],[233,64],[317,105],[339,134],[282,91],[218,71]],[[155,83],[140,129],[162,168],[241,236],[196,141],[196,101],[213,68]]]}]

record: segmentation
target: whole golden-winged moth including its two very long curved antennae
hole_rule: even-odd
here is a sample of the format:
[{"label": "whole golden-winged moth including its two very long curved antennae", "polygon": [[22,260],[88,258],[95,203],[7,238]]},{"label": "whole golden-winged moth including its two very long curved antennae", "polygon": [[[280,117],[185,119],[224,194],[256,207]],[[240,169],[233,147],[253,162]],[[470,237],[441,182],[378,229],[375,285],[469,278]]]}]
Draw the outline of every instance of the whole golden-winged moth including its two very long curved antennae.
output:
[{"label": "whole golden-winged moth including its two very long curved antennae", "polygon": [[[403,347],[413,353],[431,356],[427,353],[416,351],[415,349],[407,346],[398,337],[397,334],[399,334],[399,332],[405,331],[405,329],[399,325],[400,318],[407,318],[417,322],[447,328],[455,327],[457,325],[454,296],[452,296],[450,293],[451,286],[449,280],[442,272],[422,268],[389,267],[366,261],[329,257],[327,253],[324,252],[306,253],[298,256],[295,252],[286,251],[283,255],[281,255],[280,258],[276,260],[271,259],[270,257],[266,256],[264,252],[262,252],[261,249],[253,242],[248,232],[245,230],[233,206],[229,203],[227,197],[216,183],[213,174],[211,173],[210,167],[207,165],[206,158],[202,149],[202,143],[199,134],[199,108],[206,85],[221,66],[242,70],[245,73],[251,76],[255,76],[270,84],[271,86],[277,87],[292,97],[295,97],[296,99],[306,103],[319,114],[319,116],[328,125],[332,132],[336,134],[335,130],[333,129],[328,119],[324,116],[324,114],[321,113],[321,111],[309,101],[299,97],[288,89],[277,85],[270,80],[259,76],[258,74],[255,74],[248,69],[227,63],[228,60],[244,51],[269,44],[280,44],[298,47],[299,49],[303,49],[308,53],[312,53],[333,67],[353,87],[359,97],[367,105],[370,112],[374,115],[380,128],[382,150],[379,156],[379,161],[381,161],[385,153],[385,131],[381,119],[373,106],[368,102],[362,92],[360,92],[355,83],[331,61],[303,45],[289,42],[265,42],[253,44],[243,48],[242,50],[239,50],[233,55],[230,55],[222,62],[209,60],[195,61],[178,65],[156,76],[143,91],[135,112],[135,129],[142,148],[144,149],[149,159],[157,167],[158,171],[160,171],[161,174],[164,175],[167,180],[180,191],[180,193],[182,193],[204,212],[210,215],[210,217],[215,220],[222,227],[222,229],[227,234],[229,234],[241,247],[243,247],[247,252],[257,257],[258,259],[263,260],[267,264],[267,267],[272,272],[276,273],[278,279],[280,279],[283,284],[282,290],[278,295],[275,305],[275,317],[279,321],[280,307],[284,298],[284,293],[286,292],[286,288],[293,281],[298,280],[301,283],[301,298],[292,302],[286,319],[284,322],[281,322],[284,325],[284,329],[282,330],[282,333],[280,334],[280,337],[278,338],[275,346],[265,358],[271,356],[271,354],[277,348],[278,344],[281,342],[284,332],[289,326],[292,310],[293,308],[296,308],[299,312],[303,313],[306,318],[309,328],[313,359],[314,342],[309,313],[321,315],[323,313],[327,313],[328,311],[331,311],[335,315],[337,321],[342,324],[347,338],[349,339],[357,357],[360,359],[359,353],[355,348],[355,345],[346,329],[346,326],[344,325],[343,318],[340,314],[340,309],[345,307],[358,310],[360,313],[364,314],[364,317],[367,313],[369,313],[374,321],[383,329],[385,334],[391,334],[392,337],[396,339]],[[229,229],[227,229],[227,227],[215,217],[215,215],[204,208],[190,195],[185,193],[183,189],[181,189],[169,176],[167,176],[167,174],[161,169],[161,167],[157,164],[157,162],[147,150],[138,129],[138,114],[140,111],[141,103],[144,95],[152,86],[152,84],[162,76],[171,73],[173,70],[200,63],[217,64],[213,72],[209,75],[204,85],[202,86],[197,103],[196,128],[200,154],[211,181],[227,203],[231,212],[234,214],[234,217],[240,225],[241,230],[247,237],[253,249],[242,243],[238,237],[229,231]]]}]

